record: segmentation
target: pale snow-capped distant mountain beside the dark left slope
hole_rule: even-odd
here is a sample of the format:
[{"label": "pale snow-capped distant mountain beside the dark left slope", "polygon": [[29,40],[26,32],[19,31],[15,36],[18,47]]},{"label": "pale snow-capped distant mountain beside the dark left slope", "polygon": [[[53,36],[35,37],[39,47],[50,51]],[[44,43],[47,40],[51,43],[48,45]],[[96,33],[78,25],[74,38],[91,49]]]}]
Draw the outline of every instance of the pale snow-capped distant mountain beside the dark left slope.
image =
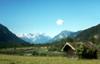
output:
[{"label": "pale snow-capped distant mountain beside the dark left slope", "polygon": [[34,43],[34,44],[43,44],[43,43],[47,43],[49,40],[51,40],[51,37],[46,35],[46,34],[22,34],[22,35],[18,35],[21,39],[30,42],[30,43]]}]

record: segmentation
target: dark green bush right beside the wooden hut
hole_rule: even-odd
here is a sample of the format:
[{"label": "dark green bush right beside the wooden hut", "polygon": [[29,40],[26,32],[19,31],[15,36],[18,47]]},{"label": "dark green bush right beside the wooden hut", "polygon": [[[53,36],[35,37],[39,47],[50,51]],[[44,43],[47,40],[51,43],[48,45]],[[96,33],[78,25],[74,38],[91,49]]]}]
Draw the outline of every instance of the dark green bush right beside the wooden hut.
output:
[{"label": "dark green bush right beside the wooden hut", "polygon": [[79,58],[97,59],[97,49],[86,47],[84,44],[79,45],[76,53]]}]

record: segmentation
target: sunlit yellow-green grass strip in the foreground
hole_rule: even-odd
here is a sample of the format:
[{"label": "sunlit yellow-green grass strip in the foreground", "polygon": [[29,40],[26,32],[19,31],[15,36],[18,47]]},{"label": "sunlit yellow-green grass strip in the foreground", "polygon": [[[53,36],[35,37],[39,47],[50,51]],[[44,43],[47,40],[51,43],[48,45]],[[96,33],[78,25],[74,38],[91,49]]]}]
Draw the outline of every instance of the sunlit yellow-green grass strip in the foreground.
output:
[{"label": "sunlit yellow-green grass strip in the foreground", "polygon": [[0,64],[100,64],[100,60],[79,60],[67,57],[0,55]]}]

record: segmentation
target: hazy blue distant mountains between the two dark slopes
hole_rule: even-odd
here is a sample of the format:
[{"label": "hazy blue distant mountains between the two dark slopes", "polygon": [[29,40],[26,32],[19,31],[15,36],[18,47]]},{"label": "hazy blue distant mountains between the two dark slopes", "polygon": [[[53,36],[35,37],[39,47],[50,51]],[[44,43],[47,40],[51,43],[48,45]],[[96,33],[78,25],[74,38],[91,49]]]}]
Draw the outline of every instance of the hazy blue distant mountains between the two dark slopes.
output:
[{"label": "hazy blue distant mountains between the two dark slopes", "polygon": [[33,44],[44,44],[44,43],[50,43],[56,40],[60,40],[62,38],[75,37],[78,33],[79,32],[64,30],[60,32],[58,35],[54,36],[53,38],[46,34],[32,34],[32,33],[22,34],[19,35],[18,37]]}]

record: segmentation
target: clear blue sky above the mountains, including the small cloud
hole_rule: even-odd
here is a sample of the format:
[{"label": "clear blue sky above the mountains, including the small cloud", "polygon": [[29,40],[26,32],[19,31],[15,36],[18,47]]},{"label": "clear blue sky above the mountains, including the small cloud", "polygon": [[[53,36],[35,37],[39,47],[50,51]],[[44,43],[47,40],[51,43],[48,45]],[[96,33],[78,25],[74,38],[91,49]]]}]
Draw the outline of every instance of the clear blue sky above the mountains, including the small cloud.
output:
[{"label": "clear blue sky above the mountains, including the small cloud", "polygon": [[100,23],[100,0],[0,0],[0,23],[15,34],[84,30]]}]

